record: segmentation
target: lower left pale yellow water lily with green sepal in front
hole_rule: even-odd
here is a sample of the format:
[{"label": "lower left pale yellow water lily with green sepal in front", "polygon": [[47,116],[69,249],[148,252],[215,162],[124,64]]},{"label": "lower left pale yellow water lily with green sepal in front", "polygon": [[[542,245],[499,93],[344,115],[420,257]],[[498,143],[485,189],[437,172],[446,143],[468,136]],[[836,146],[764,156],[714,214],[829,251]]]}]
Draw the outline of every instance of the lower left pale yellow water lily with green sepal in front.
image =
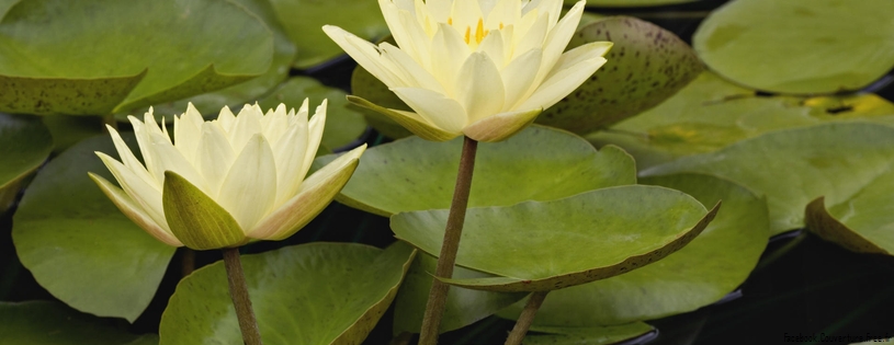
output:
[{"label": "lower left pale yellow water lily with green sepal in front", "polygon": [[145,166],[109,127],[121,162],[97,152],[121,188],[90,173],[131,220],[170,245],[233,248],[251,240],[282,240],[316,217],[357,168],[365,145],[304,179],[322,137],[326,101],[308,120],[307,100],[297,114],[285,105],[264,114],[228,107],[205,122],[189,105],[174,117],[173,142],[152,110],[129,116]]}]

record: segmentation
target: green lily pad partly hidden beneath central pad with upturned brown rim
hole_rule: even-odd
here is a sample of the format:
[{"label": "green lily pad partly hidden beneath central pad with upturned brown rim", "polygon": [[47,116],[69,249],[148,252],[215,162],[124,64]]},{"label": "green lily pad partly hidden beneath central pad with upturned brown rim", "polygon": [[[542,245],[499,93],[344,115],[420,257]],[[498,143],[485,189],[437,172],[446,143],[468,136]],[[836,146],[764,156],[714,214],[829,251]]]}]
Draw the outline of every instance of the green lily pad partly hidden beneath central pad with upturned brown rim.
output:
[{"label": "green lily pad partly hidden beneath central pad with upturned brown rim", "polygon": [[[646,177],[643,183],[682,191],[704,205],[723,200],[717,217],[679,252],[634,272],[552,291],[536,326],[620,324],[697,310],[739,286],[767,245],[767,204],[747,188],[703,174]],[[517,303],[499,315],[516,318]]]}]

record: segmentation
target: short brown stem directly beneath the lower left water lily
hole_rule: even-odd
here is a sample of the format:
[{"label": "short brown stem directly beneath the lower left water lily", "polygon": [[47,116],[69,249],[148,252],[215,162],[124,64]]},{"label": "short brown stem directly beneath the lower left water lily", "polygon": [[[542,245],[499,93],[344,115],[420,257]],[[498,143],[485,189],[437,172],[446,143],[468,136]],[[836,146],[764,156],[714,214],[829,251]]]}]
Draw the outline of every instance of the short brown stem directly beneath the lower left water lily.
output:
[{"label": "short brown stem directly beneath the lower left water lily", "polygon": [[239,249],[225,248],[220,251],[224,252],[229,296],[233,298],[233,306],[236,307],[242,341],[246,345],[261,345],[261,332],[258,330],[258,321],[254,320],[254,311],[251,310],[251,300],[248,298],[248,285],[242,273],[242,263],[239,261]]}]

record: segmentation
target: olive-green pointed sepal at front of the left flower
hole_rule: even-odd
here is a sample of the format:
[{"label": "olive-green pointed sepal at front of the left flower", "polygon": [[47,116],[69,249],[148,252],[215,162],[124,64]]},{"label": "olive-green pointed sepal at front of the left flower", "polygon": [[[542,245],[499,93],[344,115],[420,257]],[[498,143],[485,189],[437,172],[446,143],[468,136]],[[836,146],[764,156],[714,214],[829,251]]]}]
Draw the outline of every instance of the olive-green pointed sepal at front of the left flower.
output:
[{"label": "olive-green pointed sepal at front of the left flower", "polygon": [[190,249],[234,248],[248,242],[226,209],[172,171],[165,172],[161,203],[171,232]]}]

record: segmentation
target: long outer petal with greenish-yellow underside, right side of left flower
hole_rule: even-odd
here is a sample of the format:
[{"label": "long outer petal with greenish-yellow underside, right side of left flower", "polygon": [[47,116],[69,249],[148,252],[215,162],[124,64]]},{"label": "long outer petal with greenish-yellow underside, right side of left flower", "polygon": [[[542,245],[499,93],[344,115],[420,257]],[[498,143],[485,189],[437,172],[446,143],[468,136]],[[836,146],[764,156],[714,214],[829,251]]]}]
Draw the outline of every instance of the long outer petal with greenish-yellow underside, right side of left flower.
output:
[{"label": "long outer petal with greenish-yellow underside, right side of left flower", "polygon": [[248,231],[248,237],[258,240],[283,240],[298,231],[341,192],[365,149],[365,145],[358,147],[315,172],[302,184],[297,195],[258,222]]}]

